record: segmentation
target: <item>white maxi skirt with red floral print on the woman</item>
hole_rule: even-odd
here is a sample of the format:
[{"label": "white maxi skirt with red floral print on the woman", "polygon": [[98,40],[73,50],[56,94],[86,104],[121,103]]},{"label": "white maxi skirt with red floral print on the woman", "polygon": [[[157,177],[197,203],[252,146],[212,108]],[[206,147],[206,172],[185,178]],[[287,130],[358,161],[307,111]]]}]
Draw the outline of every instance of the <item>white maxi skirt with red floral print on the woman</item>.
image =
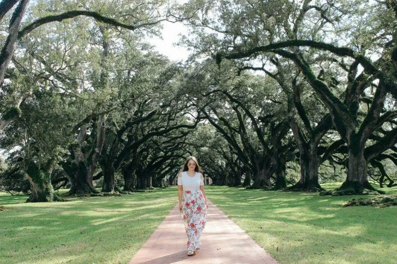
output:
[{"label": "white maxi skirt with red floral print on the woman", "polygon": [[188,236],[188,251],[200,247],[200,236],[207,221],[207,209],[202,192],[184,191],[182,197],[182,217]]}]

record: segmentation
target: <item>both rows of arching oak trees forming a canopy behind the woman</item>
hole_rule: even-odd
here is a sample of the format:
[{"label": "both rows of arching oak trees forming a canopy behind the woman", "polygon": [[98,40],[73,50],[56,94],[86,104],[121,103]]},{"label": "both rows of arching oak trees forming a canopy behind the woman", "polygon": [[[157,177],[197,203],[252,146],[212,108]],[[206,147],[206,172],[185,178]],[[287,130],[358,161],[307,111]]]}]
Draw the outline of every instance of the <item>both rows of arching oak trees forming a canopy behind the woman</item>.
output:
[{"label": "both rows of arching oak trees forming a canopy behind the woman", "polygon": [[[1,1],[0,186],[167,186],[192,154],[215,184],[396,185],[396,1],[164,4]],[[185,65],[144,41],[171,18],[191,28]]]}]

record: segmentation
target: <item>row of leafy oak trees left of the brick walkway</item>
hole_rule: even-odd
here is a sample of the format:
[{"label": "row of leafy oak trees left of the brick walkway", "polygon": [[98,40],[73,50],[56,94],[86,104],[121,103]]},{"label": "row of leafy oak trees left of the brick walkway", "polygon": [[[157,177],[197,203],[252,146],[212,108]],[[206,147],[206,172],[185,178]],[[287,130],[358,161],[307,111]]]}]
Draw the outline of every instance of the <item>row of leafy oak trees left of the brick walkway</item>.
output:
[{"label": "row of leafy oak trees left of the brick walkway", "polygon": [[[143,40],[158,34],[164,3],[27,4],[4,17],[1,147],[11,154],[3,178],[26,175],[29,201],[37,202],[60,199],[53,184],[68,182],[69,195],[95,194],[93,180],[103,177],[102,192],[112,194],[115,173],[124,191],[175,174],[200,117],[188,114],[179,92],[183,67]],[[16,17],[24,17],[22,29]]]}]

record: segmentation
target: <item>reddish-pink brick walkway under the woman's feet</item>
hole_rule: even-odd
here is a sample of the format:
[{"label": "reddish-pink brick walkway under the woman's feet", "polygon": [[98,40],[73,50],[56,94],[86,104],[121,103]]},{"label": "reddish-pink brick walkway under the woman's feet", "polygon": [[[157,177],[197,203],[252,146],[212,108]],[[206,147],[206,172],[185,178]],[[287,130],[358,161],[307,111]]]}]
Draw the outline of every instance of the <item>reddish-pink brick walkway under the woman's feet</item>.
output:
[{"label": "reddish-pink brick walkway under the woman's feet", "polygon": [[130,264],[278,263],[210,201],[207,223],[201,234],[201,248],[194,256],[187,256],[187,240],[181,214],[175,206]]}]

